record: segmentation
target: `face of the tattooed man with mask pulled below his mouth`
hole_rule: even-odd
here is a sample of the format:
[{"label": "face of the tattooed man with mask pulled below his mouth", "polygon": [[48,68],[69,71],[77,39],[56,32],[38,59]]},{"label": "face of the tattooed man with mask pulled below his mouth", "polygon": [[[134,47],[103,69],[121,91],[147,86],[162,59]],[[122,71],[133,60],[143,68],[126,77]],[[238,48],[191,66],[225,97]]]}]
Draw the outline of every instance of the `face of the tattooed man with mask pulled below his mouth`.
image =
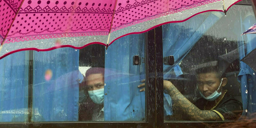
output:
[{"label": "face of the tattooed man with mask pulled below his mouth", "polygon": [[[208,97],[211,94],[213,94],[214,91],[216,91],[219,88],[220,80],[217,77],[216,72],[210,72],[210,73],[199,73],[197,75],[197,86],[203,96]],[[221,88],[219,88],[218,92],[221,91]]]}]

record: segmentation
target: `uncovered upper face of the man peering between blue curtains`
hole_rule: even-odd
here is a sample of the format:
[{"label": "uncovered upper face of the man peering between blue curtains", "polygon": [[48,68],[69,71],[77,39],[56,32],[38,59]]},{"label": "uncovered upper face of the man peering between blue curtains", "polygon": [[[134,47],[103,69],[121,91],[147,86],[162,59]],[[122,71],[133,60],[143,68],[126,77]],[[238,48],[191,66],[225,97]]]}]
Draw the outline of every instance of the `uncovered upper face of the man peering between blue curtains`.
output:
[{"label": "uncovered upper face of the man peering between blue curtains", "polygon": [[101,73],[91,74],[87,76],[86,80],[87,80],[88,91],[104,88],[104,78]]}]

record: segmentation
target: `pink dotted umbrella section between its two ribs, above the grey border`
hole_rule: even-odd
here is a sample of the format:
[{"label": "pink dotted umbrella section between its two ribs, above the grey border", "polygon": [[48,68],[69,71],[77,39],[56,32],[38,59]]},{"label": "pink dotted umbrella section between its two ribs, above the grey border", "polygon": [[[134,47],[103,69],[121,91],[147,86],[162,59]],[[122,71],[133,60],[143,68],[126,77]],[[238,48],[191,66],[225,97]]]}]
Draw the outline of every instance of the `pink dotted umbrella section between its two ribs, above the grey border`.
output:
[{"label": "pink dotted umbrella section between its two ribs, above the grey border", "polygon": [[[80,2],[81,1],[81,2]],[[5,43],[34,39],[107,35],[114,0],[24,0]]]}]

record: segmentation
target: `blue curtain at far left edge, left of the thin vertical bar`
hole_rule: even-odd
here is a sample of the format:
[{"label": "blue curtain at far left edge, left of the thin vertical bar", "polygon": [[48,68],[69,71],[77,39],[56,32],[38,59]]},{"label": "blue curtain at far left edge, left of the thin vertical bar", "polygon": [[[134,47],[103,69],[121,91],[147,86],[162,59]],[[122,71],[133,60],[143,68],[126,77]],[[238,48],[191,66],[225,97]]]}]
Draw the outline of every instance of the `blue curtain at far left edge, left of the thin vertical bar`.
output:
[{"label": "blue curtain at far left edge, left of the thin vertical bar", "polygon": [[0,122],[27,121],[27,51],[0,60]]}]

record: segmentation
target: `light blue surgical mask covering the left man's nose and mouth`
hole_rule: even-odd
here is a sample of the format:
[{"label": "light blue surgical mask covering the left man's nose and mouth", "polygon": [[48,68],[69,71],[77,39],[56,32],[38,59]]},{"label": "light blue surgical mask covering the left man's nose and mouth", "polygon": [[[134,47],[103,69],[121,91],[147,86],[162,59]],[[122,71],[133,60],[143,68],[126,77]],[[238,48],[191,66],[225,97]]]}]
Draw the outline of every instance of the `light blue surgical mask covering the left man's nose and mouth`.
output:
[{"label": "light blue surgical mask covering the left man's nose and mouth", "polygon": [[88,91],[91,100],[94,103],[101,104],[104,101],[104,88]]}]

